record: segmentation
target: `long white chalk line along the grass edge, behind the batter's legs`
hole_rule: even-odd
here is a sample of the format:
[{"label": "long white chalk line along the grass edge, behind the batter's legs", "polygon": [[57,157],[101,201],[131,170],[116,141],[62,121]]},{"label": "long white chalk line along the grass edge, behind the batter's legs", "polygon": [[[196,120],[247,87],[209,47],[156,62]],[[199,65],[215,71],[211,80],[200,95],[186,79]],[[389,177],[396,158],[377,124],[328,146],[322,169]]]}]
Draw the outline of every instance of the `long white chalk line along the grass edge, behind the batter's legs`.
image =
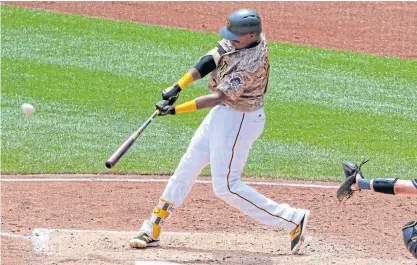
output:
[{"label": "long white chalk line along the grass edge, behind the batter's legs", "polygon": [[[168,182],[168,179],[128,179],[128,178],[21,178],[21,179],[0,179],[0,182]],[[212,184],[208,180],[197,180],[199,184]],[[303,183],[279,183],[279,182],[261,182],[261,181],[243,181],[248,185],[260,186],[282,186],[297,188],[315,188],[315,189],[337,189],[334,185],[320,184],[303,184]]]}]

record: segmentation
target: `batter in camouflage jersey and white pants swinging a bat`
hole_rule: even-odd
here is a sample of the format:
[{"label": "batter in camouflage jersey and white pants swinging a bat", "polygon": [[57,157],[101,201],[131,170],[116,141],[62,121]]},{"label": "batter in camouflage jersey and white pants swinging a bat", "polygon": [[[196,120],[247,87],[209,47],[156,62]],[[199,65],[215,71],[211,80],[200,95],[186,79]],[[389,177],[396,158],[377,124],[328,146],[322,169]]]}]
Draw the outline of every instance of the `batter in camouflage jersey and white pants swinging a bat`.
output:
[{"label": "batter in camouflage jersey and white pants swinging a bat", "polygon": [[[240,180],[254,141],[265,125],[264,98],[268,86],[268,48],[261,18],[251,9],[228,17],[216,48],[201,57],[177,83],[165,89],[157,104],[160,115],[214,107],[195,132],[187,152],[139,235],[134,248],[160,244],[161,226],[180,206],[202,169],[211,165],[214,193],[262,224],[282,227],[290,234],[291,252],[304,241],[310,212],[278,204]],[[210,94],[174,106],[184,87],[210,74]]]}]

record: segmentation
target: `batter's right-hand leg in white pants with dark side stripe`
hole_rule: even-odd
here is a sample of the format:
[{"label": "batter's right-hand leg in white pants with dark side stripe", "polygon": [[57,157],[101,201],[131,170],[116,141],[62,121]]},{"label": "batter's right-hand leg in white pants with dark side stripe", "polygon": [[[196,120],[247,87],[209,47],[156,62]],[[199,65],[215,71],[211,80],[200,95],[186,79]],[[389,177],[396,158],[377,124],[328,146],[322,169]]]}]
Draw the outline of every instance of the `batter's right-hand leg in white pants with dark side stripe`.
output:
[{"label": "batter's right-hand leg in white pants with dark side stripe", "polygon": [[214,114],[210,124],[210,164],[215,194],[263,224],[293,231],[309,214],[307,210],[278,204],[240,180],[252,143],[263,131],[263,110],[240,113],[224,109]]}]

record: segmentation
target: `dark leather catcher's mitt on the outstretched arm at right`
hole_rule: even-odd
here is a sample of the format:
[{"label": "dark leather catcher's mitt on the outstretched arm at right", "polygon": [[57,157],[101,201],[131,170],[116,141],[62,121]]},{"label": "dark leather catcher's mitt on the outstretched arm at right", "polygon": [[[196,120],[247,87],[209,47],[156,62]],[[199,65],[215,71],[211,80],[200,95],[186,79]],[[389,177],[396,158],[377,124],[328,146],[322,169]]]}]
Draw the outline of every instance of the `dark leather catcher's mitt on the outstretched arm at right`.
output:
[{"label": "dark leather catcher's mitt on the outstretched arm at right", "polygon": [[357,174],[360,174],[361,177],[363,177],[361,172],[361,166],[368,161],[369,160],[366,159],[363,160],[359,166],[352,162],[343,162],[343,171],[345,172],[346,179],[339,186],[336,192],[336,197],[339,201],[349,199],[353,195],[353,192],[357,191],[352,190],[352,184],[356,183]]}]

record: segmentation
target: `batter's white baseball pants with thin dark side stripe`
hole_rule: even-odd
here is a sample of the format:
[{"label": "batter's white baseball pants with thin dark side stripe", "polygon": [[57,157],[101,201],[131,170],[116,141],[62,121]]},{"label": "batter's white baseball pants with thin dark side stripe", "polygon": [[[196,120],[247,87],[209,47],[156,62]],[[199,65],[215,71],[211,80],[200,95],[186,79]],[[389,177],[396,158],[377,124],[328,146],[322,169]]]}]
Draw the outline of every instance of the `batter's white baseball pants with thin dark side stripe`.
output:
[{"label": "batter's white baseball pants with thin dark side stripe", "polygon": [[[180,206],[203,168],[210,164],[218,197],[262,224],[293,230],[305,210],[278,204],[240,180],[249,150],[264,125],[263,108],[242,113],[228,106],[214,107],[195,132],[161,198]],[[140,230],[152,236],[152,223],[146,220]]]}]

